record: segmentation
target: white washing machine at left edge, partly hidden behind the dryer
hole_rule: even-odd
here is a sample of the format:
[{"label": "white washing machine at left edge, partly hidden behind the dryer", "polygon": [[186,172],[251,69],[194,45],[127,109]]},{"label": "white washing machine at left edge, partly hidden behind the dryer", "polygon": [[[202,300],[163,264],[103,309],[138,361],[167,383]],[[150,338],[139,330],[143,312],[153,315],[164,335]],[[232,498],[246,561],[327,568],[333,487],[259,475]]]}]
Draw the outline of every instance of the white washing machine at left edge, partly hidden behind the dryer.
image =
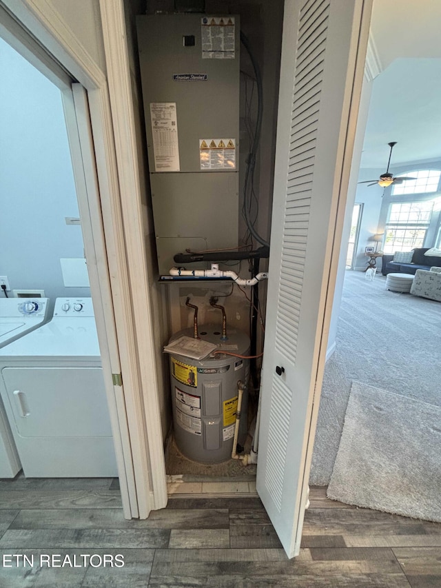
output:
[{"label": "white washing machine at left edge, partly hidden behind the dryer", "polygon": [[[0,298],[0,347],[37,329],[48,318],[48,298]],[[8,417],[0,401],[0,478],[21,470]]]}]

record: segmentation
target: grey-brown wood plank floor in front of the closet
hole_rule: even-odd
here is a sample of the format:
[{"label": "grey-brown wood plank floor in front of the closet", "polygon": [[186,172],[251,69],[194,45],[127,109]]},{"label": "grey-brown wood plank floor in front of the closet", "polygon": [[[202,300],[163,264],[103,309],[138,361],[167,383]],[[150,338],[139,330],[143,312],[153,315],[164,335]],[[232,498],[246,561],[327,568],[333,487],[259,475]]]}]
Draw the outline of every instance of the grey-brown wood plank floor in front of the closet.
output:
[{"label": "grey-brown wood plank floor in front of the closet", "polygon": [[258,498],[176,495],[148,520],[125,520],[117,488],[110,479],[0,480],[0,587],[441,587],[440,523],[311,488],[300,556],[288,560]]}]

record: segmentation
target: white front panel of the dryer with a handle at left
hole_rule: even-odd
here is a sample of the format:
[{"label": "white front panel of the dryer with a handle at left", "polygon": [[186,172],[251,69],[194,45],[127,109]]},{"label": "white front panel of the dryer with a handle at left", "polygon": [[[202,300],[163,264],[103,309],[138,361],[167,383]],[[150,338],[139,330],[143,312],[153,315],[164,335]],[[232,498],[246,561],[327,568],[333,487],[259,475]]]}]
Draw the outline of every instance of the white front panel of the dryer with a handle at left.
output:
[{"label": "white front panel of the dryer with a handle at left", "polygon": [[2,375],[25,476],[117,475],[101,367],[5,367]]}]

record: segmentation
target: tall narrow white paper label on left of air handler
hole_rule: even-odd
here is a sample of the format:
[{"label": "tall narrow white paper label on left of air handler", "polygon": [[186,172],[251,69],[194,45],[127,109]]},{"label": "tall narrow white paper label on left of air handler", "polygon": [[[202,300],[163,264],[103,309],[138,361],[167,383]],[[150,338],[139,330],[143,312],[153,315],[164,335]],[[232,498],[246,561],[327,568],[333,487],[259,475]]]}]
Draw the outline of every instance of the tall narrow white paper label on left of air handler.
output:
[{"label": "tall narrow white paper label on left of air handler", "polygon": [[178,121],[175,102],[150,103],[155,172],[178,172]]}]

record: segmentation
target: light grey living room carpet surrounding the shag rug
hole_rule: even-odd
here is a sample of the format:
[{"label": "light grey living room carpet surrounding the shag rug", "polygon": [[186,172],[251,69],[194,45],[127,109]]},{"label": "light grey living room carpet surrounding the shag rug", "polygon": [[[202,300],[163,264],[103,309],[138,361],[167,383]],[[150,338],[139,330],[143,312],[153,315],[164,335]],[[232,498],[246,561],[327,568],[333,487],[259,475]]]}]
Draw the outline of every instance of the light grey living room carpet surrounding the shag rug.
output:
[{"label": "light grey living room carpet surrounding the shag rug", "polygon": [[310,485],[327,486],[353,381],[441,407],[441,303],[347,271],[336,350],[326,363]]}]

